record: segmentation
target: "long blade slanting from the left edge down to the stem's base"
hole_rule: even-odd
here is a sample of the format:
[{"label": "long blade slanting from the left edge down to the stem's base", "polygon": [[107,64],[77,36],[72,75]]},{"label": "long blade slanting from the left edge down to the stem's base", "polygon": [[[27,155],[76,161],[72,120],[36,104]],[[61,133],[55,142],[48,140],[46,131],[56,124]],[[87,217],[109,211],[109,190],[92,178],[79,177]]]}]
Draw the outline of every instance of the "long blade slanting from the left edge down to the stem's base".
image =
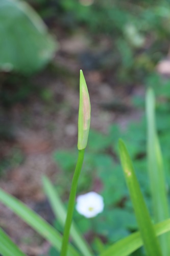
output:
[{"label": "long blade slanting from the left edge down to the stem's base", "polygon": [[[8,195],[2,189],[0,189],[0,201],[15,212],[17,216],[30,225],[34,230],[36,230],[43,238],[49,241],[58,251],[60,251],[62,236],[54,227],[43,220],[28,206],[13,196]],[[73,246],[69,245],[68,255],[77,256],[79,254]]]}]

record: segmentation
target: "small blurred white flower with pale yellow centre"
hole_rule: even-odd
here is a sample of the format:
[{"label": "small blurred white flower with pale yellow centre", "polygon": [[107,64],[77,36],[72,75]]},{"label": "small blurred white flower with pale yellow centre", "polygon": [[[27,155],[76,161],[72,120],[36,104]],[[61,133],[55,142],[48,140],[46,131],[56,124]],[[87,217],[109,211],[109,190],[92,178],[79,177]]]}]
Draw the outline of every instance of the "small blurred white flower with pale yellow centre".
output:
[{"label": "small blurred white flower with pale yellow centre", "polygon": [[103,211],[103,197],[93,191],[77,197],[76,209],[86,218],[92,218]]}]

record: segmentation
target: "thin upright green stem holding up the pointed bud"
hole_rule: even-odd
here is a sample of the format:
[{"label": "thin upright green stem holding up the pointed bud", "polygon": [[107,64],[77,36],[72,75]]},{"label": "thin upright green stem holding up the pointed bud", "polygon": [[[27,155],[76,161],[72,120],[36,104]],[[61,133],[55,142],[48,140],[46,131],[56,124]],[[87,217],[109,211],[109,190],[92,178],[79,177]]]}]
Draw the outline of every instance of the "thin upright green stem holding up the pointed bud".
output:
[{"label": "thin upright green stem holding up the pointed bud", "polygon": [[71,191],[69,195],[67,217],[66,217],[66,222],[64,226],[64,234],[63,234],[63,241],[62,241],[61,254],[60,254],[61,256],[66,256],[66,253],[67,253],[69,231],[70,231],[71,222],[72,222],[77,185],[78,185],[78,180],[79,180],[79,176],[80,176],[80,172],[83,164],[83,159],[84,159],[84,150],[79,150],[77,165],[76,165],[74,176],[72,178]]}]

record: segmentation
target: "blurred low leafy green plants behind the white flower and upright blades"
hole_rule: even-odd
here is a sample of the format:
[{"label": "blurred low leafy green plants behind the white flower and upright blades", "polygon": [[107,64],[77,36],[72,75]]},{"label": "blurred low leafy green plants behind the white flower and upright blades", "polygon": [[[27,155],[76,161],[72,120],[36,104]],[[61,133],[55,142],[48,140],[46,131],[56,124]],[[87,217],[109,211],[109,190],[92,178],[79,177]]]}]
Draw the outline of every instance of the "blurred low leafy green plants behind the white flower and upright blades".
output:
[{"label": "blurred low leafy green plants behind the white flower and upright blades", "polygon": [[[154,88],[157,97],[156,124],[163,153],[166,185],[168,187],[170,184],[170,153],[168,143],[170,140],[170,82],[168,80],[163,82],[158,75],[153,74],[147,79],[147,85]],[[144,99],[139,101],[137,97],[134,97],[133,102],[136,104],[136,108],[144,110]],[[122,173],[122,167],[118,161],[118,137],[122,137],[126,141],[145,202],[153,215],[150,183],[147,178],[146,117],[143,115],[138,122],[131,121],[124,131],[115,124],[110,125],[107,135],[90,131],[78,193],[83,194],[87,190],[92,190],[93,185],[98,182],[101,189],[100,193],[104,197],[105,211],[96,216],[92,220],[92,224],[91,220],[80,216],[77,212],[75,212],[74,219],[84,234],[88,233],[92,228],[94,236],[107,241],[108,244],[113,241],[116,242],[137,230],[134,210],[124,174]],[[72,168],[76,164],[76,151],[57,151],[54,159],[62,169],[62,174],[58,176],[57,181],[58,191],[65,197],[69,193],[69,180],[72,176]],[[168,201],[170,201],[169,192]],[[95,240],[92,245],[95,249]],[[144,255],[142,249],[139,249],[136,253],[138,253],[137,255]]]}]

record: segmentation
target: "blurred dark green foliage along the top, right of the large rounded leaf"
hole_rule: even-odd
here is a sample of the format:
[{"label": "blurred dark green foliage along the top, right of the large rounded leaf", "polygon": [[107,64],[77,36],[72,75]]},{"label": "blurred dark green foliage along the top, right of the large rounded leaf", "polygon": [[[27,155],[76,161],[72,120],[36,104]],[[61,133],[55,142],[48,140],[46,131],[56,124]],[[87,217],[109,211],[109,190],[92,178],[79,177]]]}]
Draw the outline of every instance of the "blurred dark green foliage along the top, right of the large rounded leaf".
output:
[{"label": "blurred dark green foliage along the top, right of the large rounded leaf", "polygon": [[[43,12],[47,5],[49,12]],[[168,52],[169,5],[168,1],[56,0],[37,1],[37,11],[48,22],[54,22],[57,14],[58,23],[69,32],[84,29],[94,48],[98,36],[109,37],[108,49],[91,52],[90,58],[98,63],[93,66],[94,60],[84,59],[84,68],[111,70],[114,79],[132,82],[143,80]]]}]

